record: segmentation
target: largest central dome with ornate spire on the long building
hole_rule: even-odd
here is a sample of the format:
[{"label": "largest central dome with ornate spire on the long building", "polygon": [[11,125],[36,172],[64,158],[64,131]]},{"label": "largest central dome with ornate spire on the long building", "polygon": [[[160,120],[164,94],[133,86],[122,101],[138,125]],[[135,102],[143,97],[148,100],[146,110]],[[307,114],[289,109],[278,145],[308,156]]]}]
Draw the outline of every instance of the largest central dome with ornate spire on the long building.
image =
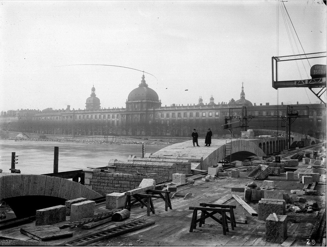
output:
[{"label": "largest central dome with ornate spire on the long building", "polygon": [[151,107],[160,107],[158,94],[146,84],[143,74],[139,87],[133,89],[126,100],[126,110],[142,110]]}]

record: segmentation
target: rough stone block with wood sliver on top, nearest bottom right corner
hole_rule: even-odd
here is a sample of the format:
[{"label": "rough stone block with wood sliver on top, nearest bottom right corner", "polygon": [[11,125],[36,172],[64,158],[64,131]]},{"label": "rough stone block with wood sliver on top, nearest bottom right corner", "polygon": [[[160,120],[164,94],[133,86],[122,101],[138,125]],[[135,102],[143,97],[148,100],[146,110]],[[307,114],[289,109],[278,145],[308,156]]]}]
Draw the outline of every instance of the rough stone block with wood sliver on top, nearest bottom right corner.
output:
[{"label": "rough stone block with wood sliver on top, nearest bottom right corner", "polygon": [[287,238],[287,215],[276,213],[278,221],[273,214],[269,214],[266,220],[266,241],[283,243]]}]

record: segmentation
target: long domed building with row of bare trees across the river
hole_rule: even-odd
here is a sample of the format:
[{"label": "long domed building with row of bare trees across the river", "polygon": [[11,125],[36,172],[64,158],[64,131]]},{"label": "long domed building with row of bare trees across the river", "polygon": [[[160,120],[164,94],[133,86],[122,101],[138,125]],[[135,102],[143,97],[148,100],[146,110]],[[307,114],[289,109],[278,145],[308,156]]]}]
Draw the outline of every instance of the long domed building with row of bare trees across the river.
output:
[{"label": "long domed building with row of bare trees across the river", "polygon": [[[243,83],[242,83],[243,84]],[[101,108],[100,99],[96,97],[95,87],[86,99],[85,109],[46,108],[43,110],[17,109],[1,111],[0,128],[5,131],[19,131],[35,134],[55,135],[127,135],[127,136],[167,136],[189,137],[194,128],[199,138],[204,138],[208,127],[212,129],[213,138],[226,138],[231,133],[224,129],[226,117],[236,117],[246,108],[247,117],[253,118],[248,128],[268,128],[285,131],[283,119],[271,119],[272,116],[287,115],[287,106],[252,104],[245,99],[242,85],[240,99],[215,103],[213,95],[209,103],[171,104],[162,106],[158,94],[148,87],[145,76],[127,98],[125,108]],[[291,130],[311,137],[326,138],[326,108],[323,104],[290,105],[297,114],[305,116],[294,121]],[[232,113],[230,109],[233,109]],[[232,116],[231,116],[232,114]],[[267,116],[267,118],[265,118]],[[240,130],[233,130],[234,136],[240,136]]]}]

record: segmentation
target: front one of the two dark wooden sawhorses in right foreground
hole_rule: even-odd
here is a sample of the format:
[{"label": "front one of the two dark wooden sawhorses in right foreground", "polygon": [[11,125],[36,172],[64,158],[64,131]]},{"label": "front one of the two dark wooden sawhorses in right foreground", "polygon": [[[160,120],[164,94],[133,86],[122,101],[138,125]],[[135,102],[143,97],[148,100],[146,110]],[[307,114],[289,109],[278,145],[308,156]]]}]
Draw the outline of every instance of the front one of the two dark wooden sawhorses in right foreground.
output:
[{"label": "front one of the two dark wooden sawhorses in right foreground", "polygon": [[[223,234],[224,235],[227,235],[226,232],[229,232],[226,212],[230,213],[231,212],[230,209],[207,208],[207,207],[189,207],[189,209],[193,210],[190,232],[193,232],[193,229],[197,228],[197,223],[198,222],[199,222],[199,227],[201,227],[203,220],[208,218],[208,217],[214,219],[216,222],[218,222],[220,225],[223,226]],[[198,210],[200,210],[202,213],[201,213],[200,218],[197,219]],[[219,219],[217,219],[215,216],[213,216],[216,213],[221,214],[221,217],[222,217],[221,221]]]}]

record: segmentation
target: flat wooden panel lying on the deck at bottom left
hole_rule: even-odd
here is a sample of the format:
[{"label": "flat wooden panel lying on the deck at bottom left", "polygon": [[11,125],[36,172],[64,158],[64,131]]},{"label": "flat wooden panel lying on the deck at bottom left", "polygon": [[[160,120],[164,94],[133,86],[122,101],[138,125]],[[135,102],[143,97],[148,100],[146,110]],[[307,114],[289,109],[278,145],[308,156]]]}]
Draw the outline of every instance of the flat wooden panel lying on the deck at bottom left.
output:
[{"label": "flat wooden panel lying on the deck at bottom left", "polygon": [[61,230],[53,225],[23,227],[20,232],[38,241],[72,237],[73,233]]}]

